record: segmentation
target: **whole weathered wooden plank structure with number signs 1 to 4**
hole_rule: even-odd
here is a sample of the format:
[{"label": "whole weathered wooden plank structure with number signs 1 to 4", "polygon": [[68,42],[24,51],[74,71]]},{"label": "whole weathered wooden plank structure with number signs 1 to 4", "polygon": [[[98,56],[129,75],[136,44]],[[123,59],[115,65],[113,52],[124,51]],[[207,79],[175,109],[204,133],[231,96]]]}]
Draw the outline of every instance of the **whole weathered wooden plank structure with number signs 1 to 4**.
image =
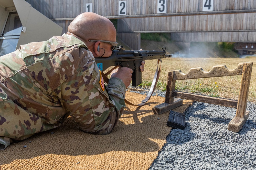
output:
[{"label": "whole weathered wooden plank structure with number signs 1 to 4", "polygon": [[256,42],[255,0],[27,0],[63,28],[92,11],[118,19],[118,36],[133,49],[140,33],[168,32],[179,42]]}]

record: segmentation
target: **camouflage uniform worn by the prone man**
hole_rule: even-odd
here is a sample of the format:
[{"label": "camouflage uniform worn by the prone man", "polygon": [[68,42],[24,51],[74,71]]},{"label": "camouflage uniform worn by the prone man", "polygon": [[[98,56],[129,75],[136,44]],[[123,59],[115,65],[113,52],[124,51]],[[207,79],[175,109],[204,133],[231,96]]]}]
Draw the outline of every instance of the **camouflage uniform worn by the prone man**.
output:
[{"label": "camouflage uniform worn by the prone man", "polygon": [[60,126],[68,117],[85,132],[108,134],[124,107],[125,85],[101,86],[92,53],[63,34],[0,57],[0,148]]}]

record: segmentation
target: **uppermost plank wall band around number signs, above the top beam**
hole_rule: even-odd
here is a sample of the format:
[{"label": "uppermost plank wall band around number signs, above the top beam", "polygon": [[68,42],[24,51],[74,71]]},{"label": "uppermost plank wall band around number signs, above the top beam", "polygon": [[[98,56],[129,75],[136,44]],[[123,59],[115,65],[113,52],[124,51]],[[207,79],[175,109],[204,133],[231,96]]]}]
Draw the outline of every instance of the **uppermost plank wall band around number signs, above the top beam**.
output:
[{"label": "uppermost plank wall band around number signs, above the top beam", "polygon": [[[50,19],[73,18],[86,11],[92,3],[94,13],[101,16],[118,16],[119,0],[26,0]],[[256,9],[255,0],[212,0],[213,11]],[[157,14],[157,0],[127,0],[127,15]],[[202,0],[166,0],[166,13],[201,12]],[[126,16],[127,17],[127,16]]]}]

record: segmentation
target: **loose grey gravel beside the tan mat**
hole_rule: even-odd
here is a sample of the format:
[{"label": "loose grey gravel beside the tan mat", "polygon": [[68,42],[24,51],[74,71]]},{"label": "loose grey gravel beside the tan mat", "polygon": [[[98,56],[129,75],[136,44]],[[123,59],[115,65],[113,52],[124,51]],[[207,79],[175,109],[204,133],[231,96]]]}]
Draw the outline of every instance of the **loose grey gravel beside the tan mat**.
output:
[{"label": "loose grey gravel beside the tan mat", "polygon": [[256,104],[248,102],[246,110],[250,116],[236,133],[227,130],[236,109],[193,102],[184,130],[171,130],[149,169],[256,169]]}]

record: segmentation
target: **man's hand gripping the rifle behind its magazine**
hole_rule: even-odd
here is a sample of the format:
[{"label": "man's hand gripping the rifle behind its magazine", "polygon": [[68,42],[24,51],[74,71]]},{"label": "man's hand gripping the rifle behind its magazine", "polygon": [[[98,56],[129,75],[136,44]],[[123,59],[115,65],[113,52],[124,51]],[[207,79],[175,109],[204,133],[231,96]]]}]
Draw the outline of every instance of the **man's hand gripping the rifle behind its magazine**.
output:
[{"label": "man's hand gripping the rifle behind its magazine", "polygon": [[110,77],[117,77],[124,82],[125,88],[127,88],[132,81],[132,69],[128,67],[119,67],[111,72]]}]

